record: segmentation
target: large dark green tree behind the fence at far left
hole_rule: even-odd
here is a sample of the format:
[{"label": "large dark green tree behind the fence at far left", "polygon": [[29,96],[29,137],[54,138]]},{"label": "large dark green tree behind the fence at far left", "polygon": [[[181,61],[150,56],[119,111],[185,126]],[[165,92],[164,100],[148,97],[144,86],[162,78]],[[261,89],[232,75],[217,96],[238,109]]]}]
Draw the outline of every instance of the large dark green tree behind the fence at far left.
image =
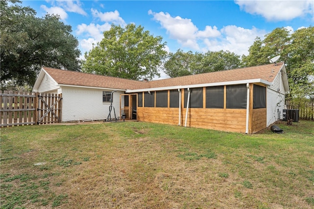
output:
[{"label": "large dark green tree behind the fence at far left", "polygon": [[18,0],[1,0],[1,85],[33,85],[41,66],[80,70],[78,40],[54,15],[35,17]]}]

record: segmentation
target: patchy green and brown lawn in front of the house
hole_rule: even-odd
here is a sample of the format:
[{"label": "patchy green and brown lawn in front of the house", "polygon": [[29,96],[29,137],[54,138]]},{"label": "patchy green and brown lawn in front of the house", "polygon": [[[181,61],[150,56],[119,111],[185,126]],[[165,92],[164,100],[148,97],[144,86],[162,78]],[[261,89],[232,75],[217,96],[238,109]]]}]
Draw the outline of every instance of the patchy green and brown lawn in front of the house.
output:
[{"label": "patchy green and brown lawn in front of the house", "polygon": [[1,209],[314,208],[314,122],[246,135],[142,122],[1,129]]}]

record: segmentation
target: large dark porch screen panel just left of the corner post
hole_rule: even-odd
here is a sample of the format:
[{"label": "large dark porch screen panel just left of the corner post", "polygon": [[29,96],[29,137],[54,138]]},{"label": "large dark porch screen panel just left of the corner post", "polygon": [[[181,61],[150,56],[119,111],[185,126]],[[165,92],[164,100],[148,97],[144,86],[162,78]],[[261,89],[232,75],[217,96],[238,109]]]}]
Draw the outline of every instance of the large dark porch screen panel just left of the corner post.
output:
[{"label": "large dark porch screen panel just left of the corner post", "polygon": [[246,84],[228,85],[226,106],[230,109],[246,109]]}]

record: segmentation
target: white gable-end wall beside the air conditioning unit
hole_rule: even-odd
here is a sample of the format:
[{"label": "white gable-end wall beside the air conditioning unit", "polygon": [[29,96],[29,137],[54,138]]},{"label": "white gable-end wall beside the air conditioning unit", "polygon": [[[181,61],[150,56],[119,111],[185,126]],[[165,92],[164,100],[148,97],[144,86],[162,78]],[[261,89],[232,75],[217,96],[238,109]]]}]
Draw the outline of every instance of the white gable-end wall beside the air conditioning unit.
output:
[{"label": "white gable-end wall beside the air conditioning unit", "polygon": [[279,72],[271,86],[267,87],[267,127],[283,119],[285,108],[285,89],[281,72]]}]

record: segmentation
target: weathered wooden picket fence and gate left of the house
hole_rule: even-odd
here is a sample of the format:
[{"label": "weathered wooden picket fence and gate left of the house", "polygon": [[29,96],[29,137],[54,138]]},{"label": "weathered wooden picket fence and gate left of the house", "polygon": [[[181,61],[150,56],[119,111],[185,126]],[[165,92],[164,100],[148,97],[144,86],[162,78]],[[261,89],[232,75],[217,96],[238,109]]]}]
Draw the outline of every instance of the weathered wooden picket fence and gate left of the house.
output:
[{"label": "weathered wooden picket fence and gate left of the house", "polygon": [[61,94],[0,91],[1,127],[61,121]]}]

